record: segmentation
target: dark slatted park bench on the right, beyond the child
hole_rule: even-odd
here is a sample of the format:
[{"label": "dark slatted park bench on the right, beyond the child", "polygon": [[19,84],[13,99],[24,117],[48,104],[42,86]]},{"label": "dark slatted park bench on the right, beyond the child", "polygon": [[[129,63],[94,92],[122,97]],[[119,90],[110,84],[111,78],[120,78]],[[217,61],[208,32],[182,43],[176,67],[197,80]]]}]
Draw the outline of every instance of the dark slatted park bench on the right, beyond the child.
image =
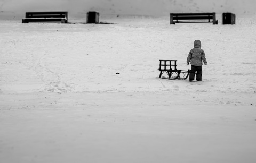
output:
[{"label": "dark slatted park bench on the right, beyond the child", "polygon": [[[191,21],[195,20],[195,21]],[[206,20],[206,21],[205,21]],[[175,23],[211,23],[218,24],[216,13],[170,13],[171,24]]]}]

